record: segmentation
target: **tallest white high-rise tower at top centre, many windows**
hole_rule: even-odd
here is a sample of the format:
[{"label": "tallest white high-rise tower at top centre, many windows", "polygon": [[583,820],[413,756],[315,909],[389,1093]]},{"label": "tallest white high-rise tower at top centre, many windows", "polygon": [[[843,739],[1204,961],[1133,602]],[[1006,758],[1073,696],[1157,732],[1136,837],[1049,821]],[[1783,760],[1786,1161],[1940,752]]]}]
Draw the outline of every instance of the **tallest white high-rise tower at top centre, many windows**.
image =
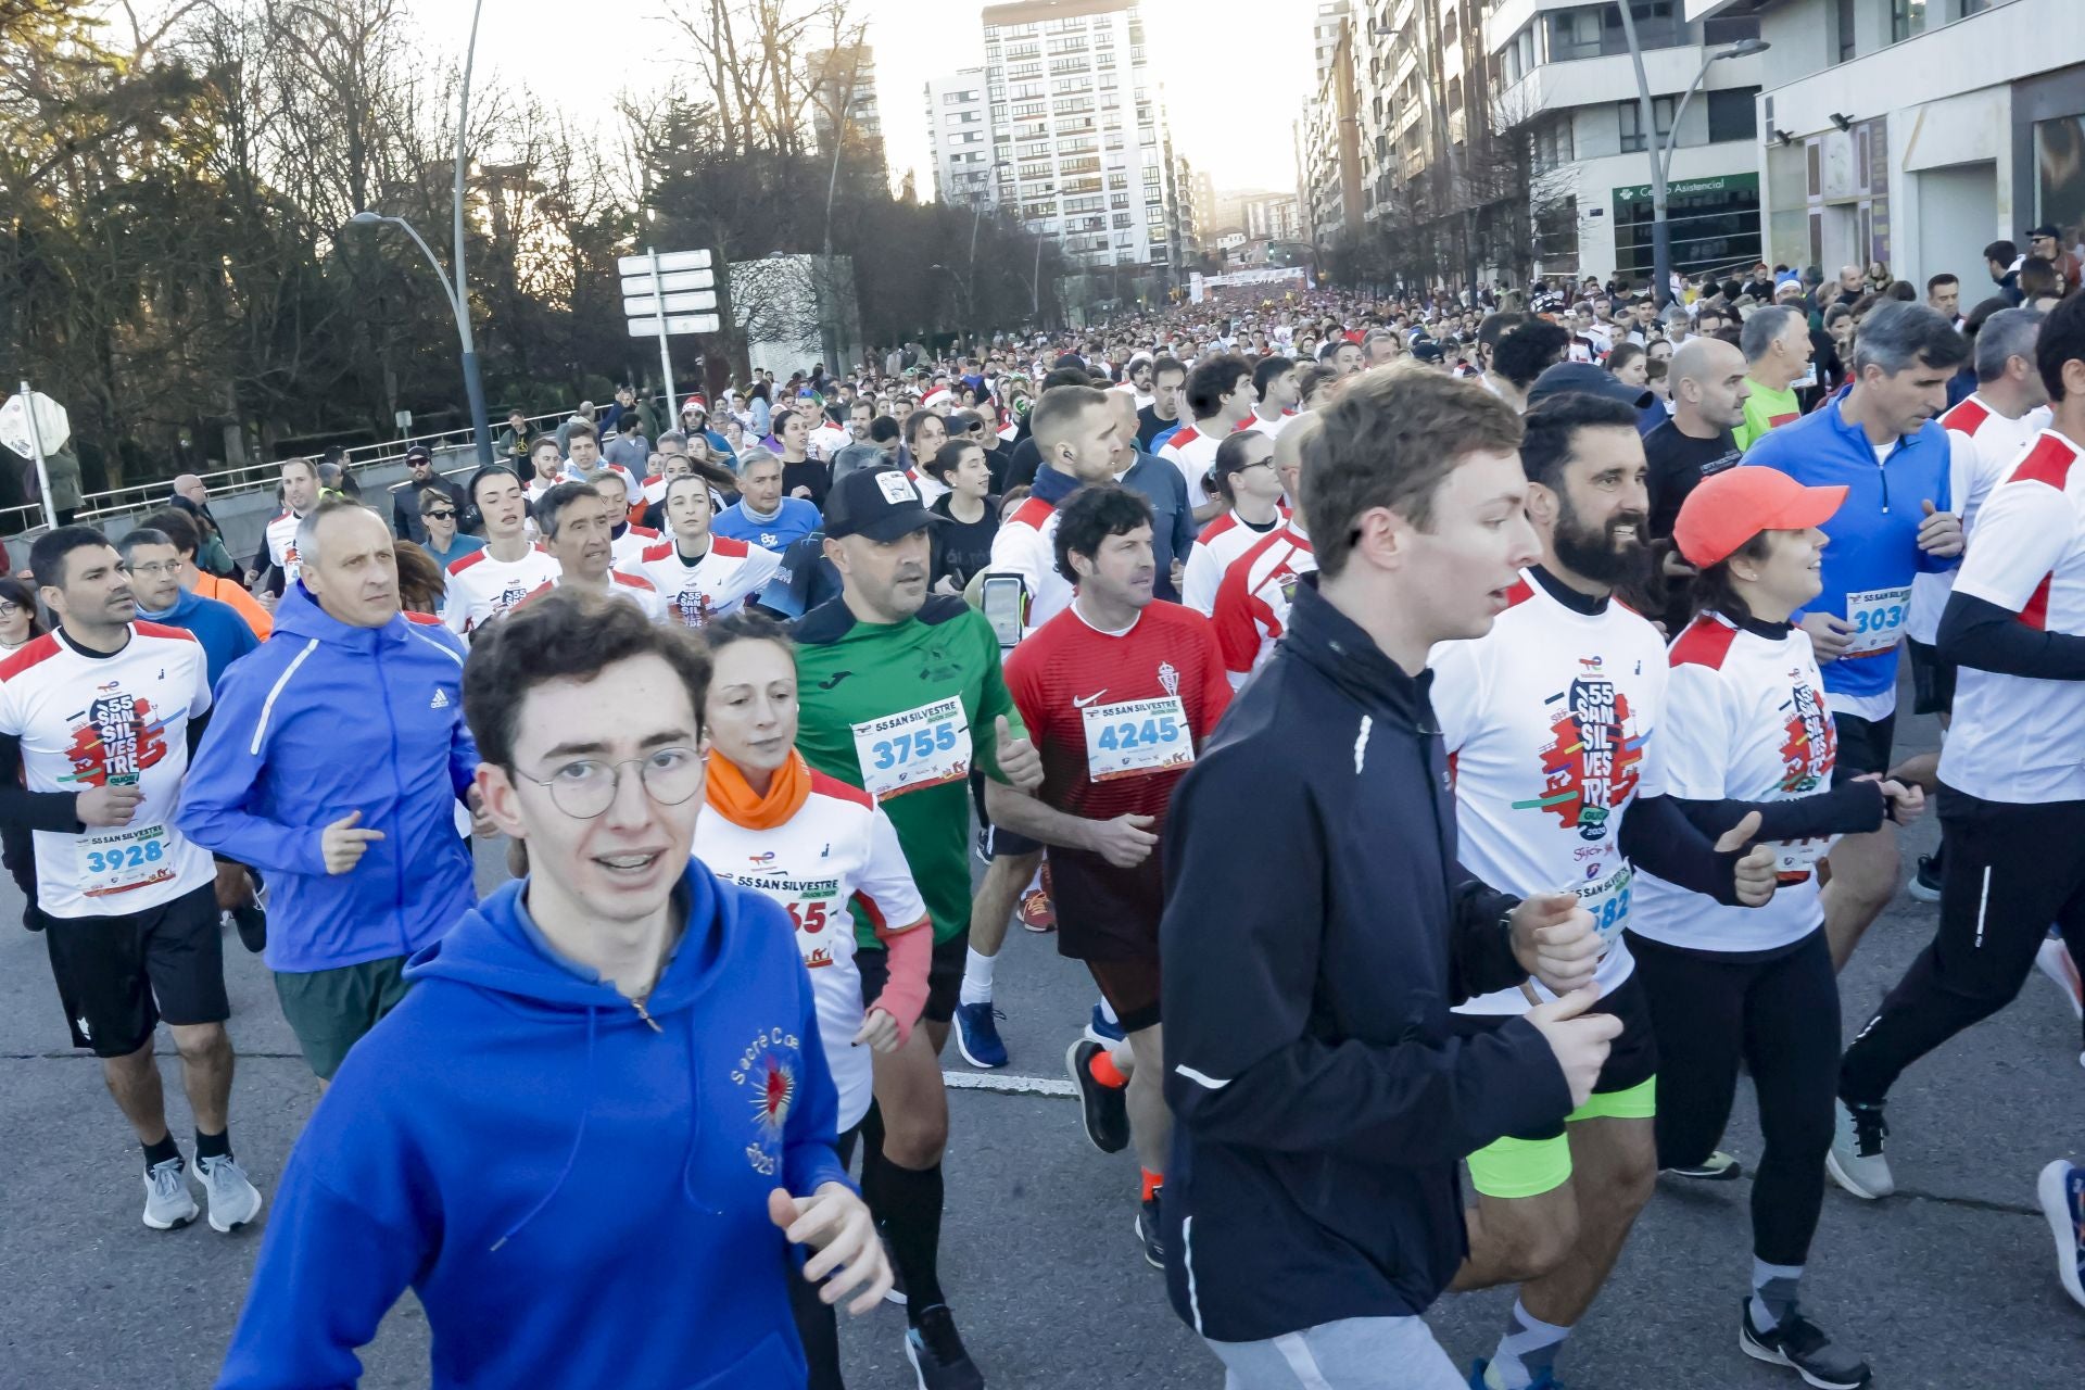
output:
[{"label": "tallest white high-rise tower at top centre, many windows", "polygon": [[1180,192],[1136,0],[984,8],[999,204],[1082,267],[1178,271]]}]

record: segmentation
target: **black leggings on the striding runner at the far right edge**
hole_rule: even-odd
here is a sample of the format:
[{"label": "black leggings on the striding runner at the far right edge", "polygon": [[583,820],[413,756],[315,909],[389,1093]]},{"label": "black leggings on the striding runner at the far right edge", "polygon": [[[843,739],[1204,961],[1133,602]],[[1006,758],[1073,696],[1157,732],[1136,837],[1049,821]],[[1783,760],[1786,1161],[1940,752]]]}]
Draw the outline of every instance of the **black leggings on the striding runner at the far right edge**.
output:
[{"label": "black leggings on the striding runner at the far right edge", "polygon": [[1845,1050],[1839,1094],[1879,1104],[1914,1061],[2006,1004],[2050,923],[2085,961],[2085,800],[1997,802],[1941,786],[1941,925]]}]

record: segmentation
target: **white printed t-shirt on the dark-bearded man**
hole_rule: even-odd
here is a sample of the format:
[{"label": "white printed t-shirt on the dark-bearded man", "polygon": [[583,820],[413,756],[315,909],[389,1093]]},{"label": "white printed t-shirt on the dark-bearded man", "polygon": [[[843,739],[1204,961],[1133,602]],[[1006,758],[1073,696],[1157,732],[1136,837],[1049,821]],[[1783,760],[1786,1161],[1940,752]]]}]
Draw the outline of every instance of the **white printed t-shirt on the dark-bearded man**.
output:
[{"label": "white printed t-shirt on the dark-bearded man", "polygon": [[[1580,613],[1532,571],[1507,602],[1489,634],[1441,642],[1428,656],[1462,865],[1520,896],[1576,892],[1610,942],[1593,977],[1605,994],[1637,967],[1622,940],[1633,869],[1620,834],[1630,802],[1664,790],[1651,734],[1666,702],[1666,644],[1624,604]],[[1526,1009],[1520,988],[1460,1007]]]}]

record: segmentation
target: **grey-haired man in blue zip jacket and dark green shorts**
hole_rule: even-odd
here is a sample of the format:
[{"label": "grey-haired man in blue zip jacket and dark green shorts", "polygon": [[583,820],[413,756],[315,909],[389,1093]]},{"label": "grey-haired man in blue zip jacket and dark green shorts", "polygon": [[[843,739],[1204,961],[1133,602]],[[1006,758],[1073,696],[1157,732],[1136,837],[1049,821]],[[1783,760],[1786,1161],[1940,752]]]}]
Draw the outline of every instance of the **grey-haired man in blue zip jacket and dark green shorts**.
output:
[{"label": "grey-haired man in blue zip jacket and dark green shorts", "polygon": [[398,613],[384,519],[321,502],[296,544],[302,579],[275,636],[225,673],[179,827],[267,873],[267,965],[323,1082],[404,998],[404,959],[477,900],[455,823],[477,748],[463,646]]}]

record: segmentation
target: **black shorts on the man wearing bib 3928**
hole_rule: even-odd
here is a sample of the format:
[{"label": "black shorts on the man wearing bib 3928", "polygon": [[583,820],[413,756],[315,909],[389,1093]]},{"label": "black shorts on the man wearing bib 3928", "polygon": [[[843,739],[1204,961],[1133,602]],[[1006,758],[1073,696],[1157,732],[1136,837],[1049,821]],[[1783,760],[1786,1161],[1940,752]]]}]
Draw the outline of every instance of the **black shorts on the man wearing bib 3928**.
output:
[{"label": "black shorts on the man wearing bib 3928", "polygon": [[188,1025],[231,1017],[215,884],[123,917],[44,913],[44,925],[75,1048],[129,1057],[152,1040],[161,1019]]}]

